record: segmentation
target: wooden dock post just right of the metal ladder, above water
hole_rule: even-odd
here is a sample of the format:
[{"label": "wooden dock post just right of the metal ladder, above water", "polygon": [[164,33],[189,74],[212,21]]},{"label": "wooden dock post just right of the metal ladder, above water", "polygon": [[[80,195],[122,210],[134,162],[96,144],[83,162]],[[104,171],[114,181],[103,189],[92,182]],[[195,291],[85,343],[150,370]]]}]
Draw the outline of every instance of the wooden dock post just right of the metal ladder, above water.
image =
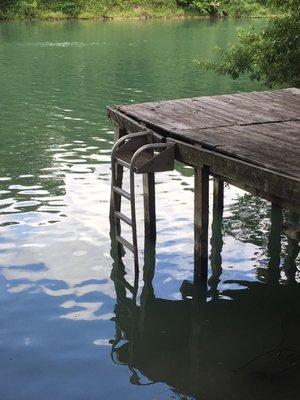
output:
[{"label": "wooden dock post just right of the metal ladder, above water", "polygon": [[[155,177],[150,172],[143,174],[145,243],[156,240]],[[145,246],[146,247],[146,246]]]}]

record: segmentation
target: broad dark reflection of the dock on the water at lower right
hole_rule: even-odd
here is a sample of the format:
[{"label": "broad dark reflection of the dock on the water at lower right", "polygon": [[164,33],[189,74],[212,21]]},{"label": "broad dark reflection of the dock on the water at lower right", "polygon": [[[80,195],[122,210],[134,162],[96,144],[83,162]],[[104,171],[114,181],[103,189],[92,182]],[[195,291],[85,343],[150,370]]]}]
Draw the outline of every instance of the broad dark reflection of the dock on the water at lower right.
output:
[{"label": "broad dark reflection of the dock on the water at lower right", "polygon": [[236,293],[232,302],[198,307],[152,299],[129,315],[118,299],[117,339],[126,342],[116,341],[113,355],[130,368],[133,384],[163,382],[197,399],[264,399],[273,390],[272,398],[296,399],[299,313],[286,317],[290,303],[282,288],[272,297]]}]

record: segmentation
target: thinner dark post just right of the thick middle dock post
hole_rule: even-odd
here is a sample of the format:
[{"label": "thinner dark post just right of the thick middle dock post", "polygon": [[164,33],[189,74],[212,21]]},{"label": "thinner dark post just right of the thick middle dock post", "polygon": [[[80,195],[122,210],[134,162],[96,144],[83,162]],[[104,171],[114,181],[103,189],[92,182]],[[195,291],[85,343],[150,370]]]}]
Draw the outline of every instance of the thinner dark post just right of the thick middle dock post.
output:
[{"label": "thinner dark post just right of the thick middle dock post", "polygon": [[212,221],[212,236],[211,236],[211,277],[209,286],[211,288],[212,298],[218,298],[218,283],[222,274],[222,220],[224,208],[224,181],[219,177],[214,177],[214,192],[213,192],[213,221]]}]

